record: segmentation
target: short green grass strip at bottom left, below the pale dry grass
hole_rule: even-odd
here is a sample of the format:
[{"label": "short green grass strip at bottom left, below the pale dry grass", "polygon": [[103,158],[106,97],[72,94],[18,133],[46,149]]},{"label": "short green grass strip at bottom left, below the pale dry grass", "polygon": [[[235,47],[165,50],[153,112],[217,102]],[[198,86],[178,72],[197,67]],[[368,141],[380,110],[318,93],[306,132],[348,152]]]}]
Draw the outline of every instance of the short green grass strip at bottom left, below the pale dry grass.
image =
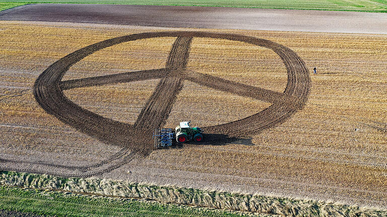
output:
[{"label": "short green grass strip at bottom left, below the pale dry grass", "polygon": [[256,216],[159,202],[0,186],[0,209],[55,216]]}]

